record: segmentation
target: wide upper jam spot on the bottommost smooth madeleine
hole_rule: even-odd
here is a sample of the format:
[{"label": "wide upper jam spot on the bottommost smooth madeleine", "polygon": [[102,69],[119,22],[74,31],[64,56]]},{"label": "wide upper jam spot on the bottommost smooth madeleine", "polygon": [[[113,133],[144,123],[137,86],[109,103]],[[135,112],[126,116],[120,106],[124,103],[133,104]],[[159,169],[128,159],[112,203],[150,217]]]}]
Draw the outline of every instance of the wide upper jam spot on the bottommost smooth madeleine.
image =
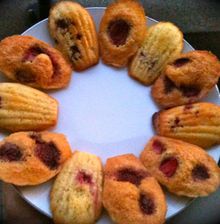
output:
[{"label": "wide upper jam spot on the bottommost smooth madeleine", "polygon": [[130,182],[136,186],[140,185],[141,181],[148,176],[144,170],[134,170],[132,168],[121,169],[117,172],[117,181]]}]

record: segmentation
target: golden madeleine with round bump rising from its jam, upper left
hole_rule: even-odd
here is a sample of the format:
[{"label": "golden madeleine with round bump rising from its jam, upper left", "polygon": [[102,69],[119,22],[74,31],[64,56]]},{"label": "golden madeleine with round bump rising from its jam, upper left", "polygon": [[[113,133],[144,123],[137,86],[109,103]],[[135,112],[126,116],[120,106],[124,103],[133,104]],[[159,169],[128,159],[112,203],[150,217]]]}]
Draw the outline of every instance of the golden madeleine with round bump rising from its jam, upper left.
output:
[{"label": "golden madeleine with round bump rising from its jam, upper left", "polygon": [[0,42],[0,71],[29,86],[58,89],[68,85],[72,69],[62,54],[47,43],[14,35]]}]

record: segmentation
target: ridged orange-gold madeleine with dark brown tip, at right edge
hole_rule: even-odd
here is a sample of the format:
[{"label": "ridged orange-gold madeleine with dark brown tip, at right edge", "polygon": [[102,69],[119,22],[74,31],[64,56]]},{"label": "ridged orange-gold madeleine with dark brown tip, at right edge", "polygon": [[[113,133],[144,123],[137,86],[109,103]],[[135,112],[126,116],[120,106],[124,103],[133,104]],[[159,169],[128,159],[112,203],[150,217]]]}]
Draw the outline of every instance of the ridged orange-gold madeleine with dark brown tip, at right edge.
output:
[{"label": "ridged orange-gold madeleine with dark brown tip, at right edge", "polygon": [[220,143],[220,106],[195,103],[162,110],[153,115],[158,135],[208,148]]}]

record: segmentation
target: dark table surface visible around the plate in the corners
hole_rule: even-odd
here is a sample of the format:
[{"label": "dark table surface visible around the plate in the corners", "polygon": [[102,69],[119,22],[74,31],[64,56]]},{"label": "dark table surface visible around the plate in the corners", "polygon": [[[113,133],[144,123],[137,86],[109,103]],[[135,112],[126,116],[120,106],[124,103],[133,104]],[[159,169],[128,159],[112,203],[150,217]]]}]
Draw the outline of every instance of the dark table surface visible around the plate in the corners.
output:
[{"label": "dark table surface visible around the plate in the corners", "polygon": [[[36,0],[0,0],[0,40],[12,34],[20,34],[36,22],[33,13],[30,17],[31,10],[28,13],[29,8],[36,7],[36,2]],[[110,1],[81,0],[78,2],[85,7],[91,7],[106,6]],[[175,23],[195,49],[210,50],[220,58],[219,0],[146,0],[141,2],[146,15],[159,21]],[[52,220],[25,202],[11,185],[0,182],[0,223],[47,224],[52,223]],[[220,190],[209,197],[195,200],[188,208],[166,223],[220,223]]]}]

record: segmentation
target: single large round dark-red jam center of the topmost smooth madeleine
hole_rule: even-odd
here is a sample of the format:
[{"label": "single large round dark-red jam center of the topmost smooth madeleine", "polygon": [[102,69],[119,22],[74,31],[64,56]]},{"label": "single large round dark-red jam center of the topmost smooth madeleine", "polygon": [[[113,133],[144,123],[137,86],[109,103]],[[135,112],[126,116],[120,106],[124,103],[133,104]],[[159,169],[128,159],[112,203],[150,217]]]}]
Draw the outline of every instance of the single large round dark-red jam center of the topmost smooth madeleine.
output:
[{"label": "single large round dark-red jam center of the topmost smooth madeleine", "polygon": [[116,46],[124,45],[130,32],[130,25],[122,20],[114,20],[109,23],[108,35]]}]

